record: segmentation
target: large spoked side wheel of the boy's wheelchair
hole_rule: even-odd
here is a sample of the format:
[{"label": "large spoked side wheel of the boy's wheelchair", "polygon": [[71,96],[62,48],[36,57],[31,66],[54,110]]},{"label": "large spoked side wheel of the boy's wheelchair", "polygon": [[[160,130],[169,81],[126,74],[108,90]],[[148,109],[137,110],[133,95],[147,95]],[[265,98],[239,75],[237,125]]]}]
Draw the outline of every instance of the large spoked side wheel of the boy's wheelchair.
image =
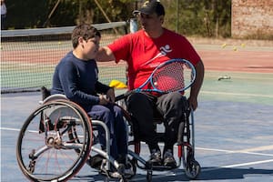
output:
[{"label": "large spoked side wheel of the boy's wheelchair", "polygon": [[86,112],[68,100],[39,106],[19,133],[16,157],[32,181],[66,181],[86,163],[92,126]]}]

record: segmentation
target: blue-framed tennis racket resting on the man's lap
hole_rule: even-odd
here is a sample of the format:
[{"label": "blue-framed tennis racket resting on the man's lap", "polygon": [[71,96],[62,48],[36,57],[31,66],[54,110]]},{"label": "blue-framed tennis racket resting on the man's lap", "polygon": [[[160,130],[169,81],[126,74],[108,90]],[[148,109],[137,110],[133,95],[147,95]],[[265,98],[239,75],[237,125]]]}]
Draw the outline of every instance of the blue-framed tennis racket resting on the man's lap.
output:
[{"label": "blue-framed tennis racket resting on the man's lap", "polygon": [[[195,67],[186,59],[170,59],[157,66],[147,80],[138,88],[123,95],[116,96],[120,100],[134,92],[183,92],[190,87],[196,78]],[[148,86],[148,88],[146,88]]]}]

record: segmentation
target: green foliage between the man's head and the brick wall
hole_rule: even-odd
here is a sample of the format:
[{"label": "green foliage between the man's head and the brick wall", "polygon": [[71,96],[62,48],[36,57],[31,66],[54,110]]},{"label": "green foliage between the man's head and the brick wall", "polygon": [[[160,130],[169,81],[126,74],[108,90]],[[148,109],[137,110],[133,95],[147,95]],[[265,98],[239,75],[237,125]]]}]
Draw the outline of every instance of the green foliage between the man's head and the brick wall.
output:
[{"label": "green foliage between the man's head and the brick wall", "polygon": [[166,25],[180,34],[230,36],[231,0],[165,0],[162,3],[168,7]]}]

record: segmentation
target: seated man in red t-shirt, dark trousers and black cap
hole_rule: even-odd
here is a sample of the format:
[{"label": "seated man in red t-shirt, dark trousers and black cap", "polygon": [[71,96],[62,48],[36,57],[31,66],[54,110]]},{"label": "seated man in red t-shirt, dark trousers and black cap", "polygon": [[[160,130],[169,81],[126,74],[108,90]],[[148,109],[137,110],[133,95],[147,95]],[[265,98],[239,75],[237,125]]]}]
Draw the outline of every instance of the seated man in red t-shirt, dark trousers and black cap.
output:
[{"label": "seated man in red t-shirt, dark trousers and black cap", "polygon": [[[176,167],[173,146],[177,142],[177,128],[181,120],[183,121],[187,103],[194,110],[197,108],[197,95],[203,83],[204,66],[193,46],[183,35],[162,26],[165,9],[158,0],[145,2],[133,13],[139,18],[142,30],[101,47],[96,59],[115,60],[116,63],[126,60],[130,90],[141,86],[159,64],[169,59],[184,58],[195,66],[197,78],[187,99],[177,92],[161,96],[140,92],[128,96],[126,100],[128,111],[136,118],[139,136],[150,149],[150,160],[153,165]],[[167,142],[163,150],[163,159],[152,122],[155,111],[163,116],[166,127]]]}]

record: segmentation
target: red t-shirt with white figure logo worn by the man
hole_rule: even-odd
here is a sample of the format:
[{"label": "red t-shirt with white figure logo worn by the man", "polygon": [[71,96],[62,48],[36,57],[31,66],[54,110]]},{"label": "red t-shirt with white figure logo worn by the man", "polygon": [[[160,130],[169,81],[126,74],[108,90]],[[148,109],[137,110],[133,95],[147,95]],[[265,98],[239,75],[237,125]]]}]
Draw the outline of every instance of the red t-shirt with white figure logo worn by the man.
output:
[{"label": "red t-shirt with white figure logo worn by the man", "polygon": [[184,58],[196,65],[200,60],[196,50],[183,35],[164,29],[157,38],[147,36],[144,30],[125,35],[108,47],[119,60],[128,64],[129,89],[141,86],[162,62],[174,58]]}]

